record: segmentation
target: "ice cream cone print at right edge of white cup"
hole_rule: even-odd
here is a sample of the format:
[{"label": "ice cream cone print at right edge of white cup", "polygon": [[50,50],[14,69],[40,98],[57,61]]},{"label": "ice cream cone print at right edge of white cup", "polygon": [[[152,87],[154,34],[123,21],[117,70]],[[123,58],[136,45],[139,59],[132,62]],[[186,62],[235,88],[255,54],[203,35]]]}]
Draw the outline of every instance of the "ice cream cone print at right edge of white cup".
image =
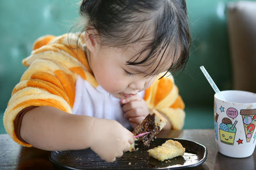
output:
[{"label": "ice cream cone print at right edge of white cup", "polygon": [[256,109],[240,110],[240,115],[243,118],[246,142],[250,142],[256,125]]}]

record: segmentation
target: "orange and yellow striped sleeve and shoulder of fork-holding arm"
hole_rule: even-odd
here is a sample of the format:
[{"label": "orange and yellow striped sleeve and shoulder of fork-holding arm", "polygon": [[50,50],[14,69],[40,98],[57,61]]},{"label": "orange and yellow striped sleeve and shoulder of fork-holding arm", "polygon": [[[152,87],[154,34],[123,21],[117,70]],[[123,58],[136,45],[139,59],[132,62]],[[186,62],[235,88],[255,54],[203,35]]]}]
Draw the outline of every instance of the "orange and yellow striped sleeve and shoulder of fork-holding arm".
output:
[{"label": "orange and yellow striped sleeve and shoulder of fork-holding arm", "polygon": [[4,111],[4,127],[15,142],[31,146],[15,134],[13,123],[22,110],[31,106],[51,106],[72,113],[77,76],[97,87],[86,62],[83,44],[83,38],[71,33],[69,36],[44,36],[35,41],[31,55],[22,60],[28,69],[13,89]]}]

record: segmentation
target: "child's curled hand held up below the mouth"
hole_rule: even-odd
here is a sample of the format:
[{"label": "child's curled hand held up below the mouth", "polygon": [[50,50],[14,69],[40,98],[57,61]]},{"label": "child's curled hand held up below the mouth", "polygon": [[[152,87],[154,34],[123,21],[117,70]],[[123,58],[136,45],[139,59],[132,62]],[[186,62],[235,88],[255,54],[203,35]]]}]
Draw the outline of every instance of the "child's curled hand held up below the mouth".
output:
[{"label": "child's curled hand held up below the mouth", "polygon": [[128,118],[133,128],[141,124],[149,113],[147,103],[138,94],[121,99],[120,103],[124,111],[124,117]]}]

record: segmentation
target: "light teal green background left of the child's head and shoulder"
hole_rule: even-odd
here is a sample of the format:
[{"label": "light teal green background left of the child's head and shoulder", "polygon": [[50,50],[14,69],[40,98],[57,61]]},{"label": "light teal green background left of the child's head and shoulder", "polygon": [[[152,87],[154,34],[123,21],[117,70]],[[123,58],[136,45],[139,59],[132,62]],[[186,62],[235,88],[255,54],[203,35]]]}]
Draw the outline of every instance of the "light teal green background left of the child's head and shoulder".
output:
[{"label": "light teal green background left of the child's head and shoulder", "polygon": [[13,87],[26,67],[33,41],[45,34],[68,32],[78,18],[74,0],[0,1],[0,111],[6,108]]}]

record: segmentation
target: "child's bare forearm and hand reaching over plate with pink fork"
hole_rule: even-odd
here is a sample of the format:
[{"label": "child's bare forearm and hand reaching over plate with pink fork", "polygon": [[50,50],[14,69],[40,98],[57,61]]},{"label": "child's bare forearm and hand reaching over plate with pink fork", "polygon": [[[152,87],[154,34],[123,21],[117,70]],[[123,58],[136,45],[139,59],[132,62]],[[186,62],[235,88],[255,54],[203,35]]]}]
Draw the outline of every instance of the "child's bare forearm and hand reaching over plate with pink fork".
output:
[{"label": "child's bare forearm and hand reaching over plate with pink fork", "polygon": [[24,115],[20,136],[43,150],[90,147],[108,162],[121,157],[134,141],[132,133],[114,120],[72,115],[49,106],[40,106]]}]

